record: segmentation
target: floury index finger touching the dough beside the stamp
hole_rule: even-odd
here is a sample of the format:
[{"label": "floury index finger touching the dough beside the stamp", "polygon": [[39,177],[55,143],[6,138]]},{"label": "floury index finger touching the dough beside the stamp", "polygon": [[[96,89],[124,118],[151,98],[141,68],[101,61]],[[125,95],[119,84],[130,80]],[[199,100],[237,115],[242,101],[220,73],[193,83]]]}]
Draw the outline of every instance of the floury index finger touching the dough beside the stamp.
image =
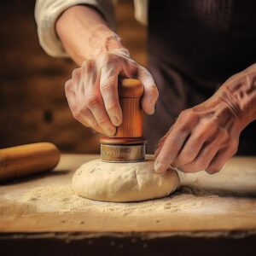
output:
[{"label": "floury index finger touching the dough beside the stamp", "polygon": [[166,141],[154,161],[155,172],[166,172],[167,168],[172,164],[172,161],[183,147],[183,143],[186,141],[187,137],[189,137],[189,131],[183,131],[179,128],[179,125],[176,125],[168,137],[166,137]]}]

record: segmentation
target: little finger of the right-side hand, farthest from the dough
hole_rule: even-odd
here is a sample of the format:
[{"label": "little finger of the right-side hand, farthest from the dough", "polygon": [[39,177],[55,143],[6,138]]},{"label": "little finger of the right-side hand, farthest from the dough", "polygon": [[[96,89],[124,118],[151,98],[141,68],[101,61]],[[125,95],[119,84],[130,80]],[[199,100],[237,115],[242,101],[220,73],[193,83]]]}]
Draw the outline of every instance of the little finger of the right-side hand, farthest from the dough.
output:
[{"label": "little finger of the right-side hand, farthest from the dough", "polygon": [[236,150],[237,144],[235,146],[230,145],[229,147],[219,150],[213,157],[210,165],[207,167],[206,172],[209,174],[219,172],[227,160],[229,160],[232,155],[236,154]]}]

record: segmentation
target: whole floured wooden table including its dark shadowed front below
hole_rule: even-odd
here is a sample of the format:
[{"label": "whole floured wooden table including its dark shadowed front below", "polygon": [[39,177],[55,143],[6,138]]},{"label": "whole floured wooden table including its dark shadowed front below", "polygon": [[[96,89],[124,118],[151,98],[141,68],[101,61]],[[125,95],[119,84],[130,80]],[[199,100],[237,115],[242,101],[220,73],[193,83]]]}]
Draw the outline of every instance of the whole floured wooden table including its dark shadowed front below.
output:
[{"label": "whole floured wooden table including its dark shadowed front below", "polygon": [[2,183],[0,252],[255,255],[256,158],[234,157],[215,175],[179,173],[181,189],[165,199],[108,203],[71,187],[97,157],[63,154],[53,172]]}]

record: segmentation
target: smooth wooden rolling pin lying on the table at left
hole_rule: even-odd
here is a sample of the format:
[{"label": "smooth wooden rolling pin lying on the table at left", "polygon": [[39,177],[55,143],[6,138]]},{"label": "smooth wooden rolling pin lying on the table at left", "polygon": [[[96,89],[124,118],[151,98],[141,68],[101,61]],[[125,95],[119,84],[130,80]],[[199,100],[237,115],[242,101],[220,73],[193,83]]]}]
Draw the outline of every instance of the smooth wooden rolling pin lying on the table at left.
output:
[{"label": "smooth wooden rolling pin lying on the table at left", "polygon": [[60,160],[60,151],[52,143],[32,143],[0,149],[0,181],[49,171]]}]

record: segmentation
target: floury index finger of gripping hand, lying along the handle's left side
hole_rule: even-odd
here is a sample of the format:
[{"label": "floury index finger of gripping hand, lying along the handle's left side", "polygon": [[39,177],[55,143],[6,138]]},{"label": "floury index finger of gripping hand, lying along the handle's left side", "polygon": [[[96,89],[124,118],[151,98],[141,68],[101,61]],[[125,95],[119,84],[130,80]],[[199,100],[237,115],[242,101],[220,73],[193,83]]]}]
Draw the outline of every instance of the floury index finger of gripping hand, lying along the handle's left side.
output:
[{"label": "floury index finger of gripping hand, lying along the handle's left side", "polygon": [[119,126],[122,123],[122,110],[119,105],[118,74],[113,68],[102,67],[100,90],[111,122]]}]

